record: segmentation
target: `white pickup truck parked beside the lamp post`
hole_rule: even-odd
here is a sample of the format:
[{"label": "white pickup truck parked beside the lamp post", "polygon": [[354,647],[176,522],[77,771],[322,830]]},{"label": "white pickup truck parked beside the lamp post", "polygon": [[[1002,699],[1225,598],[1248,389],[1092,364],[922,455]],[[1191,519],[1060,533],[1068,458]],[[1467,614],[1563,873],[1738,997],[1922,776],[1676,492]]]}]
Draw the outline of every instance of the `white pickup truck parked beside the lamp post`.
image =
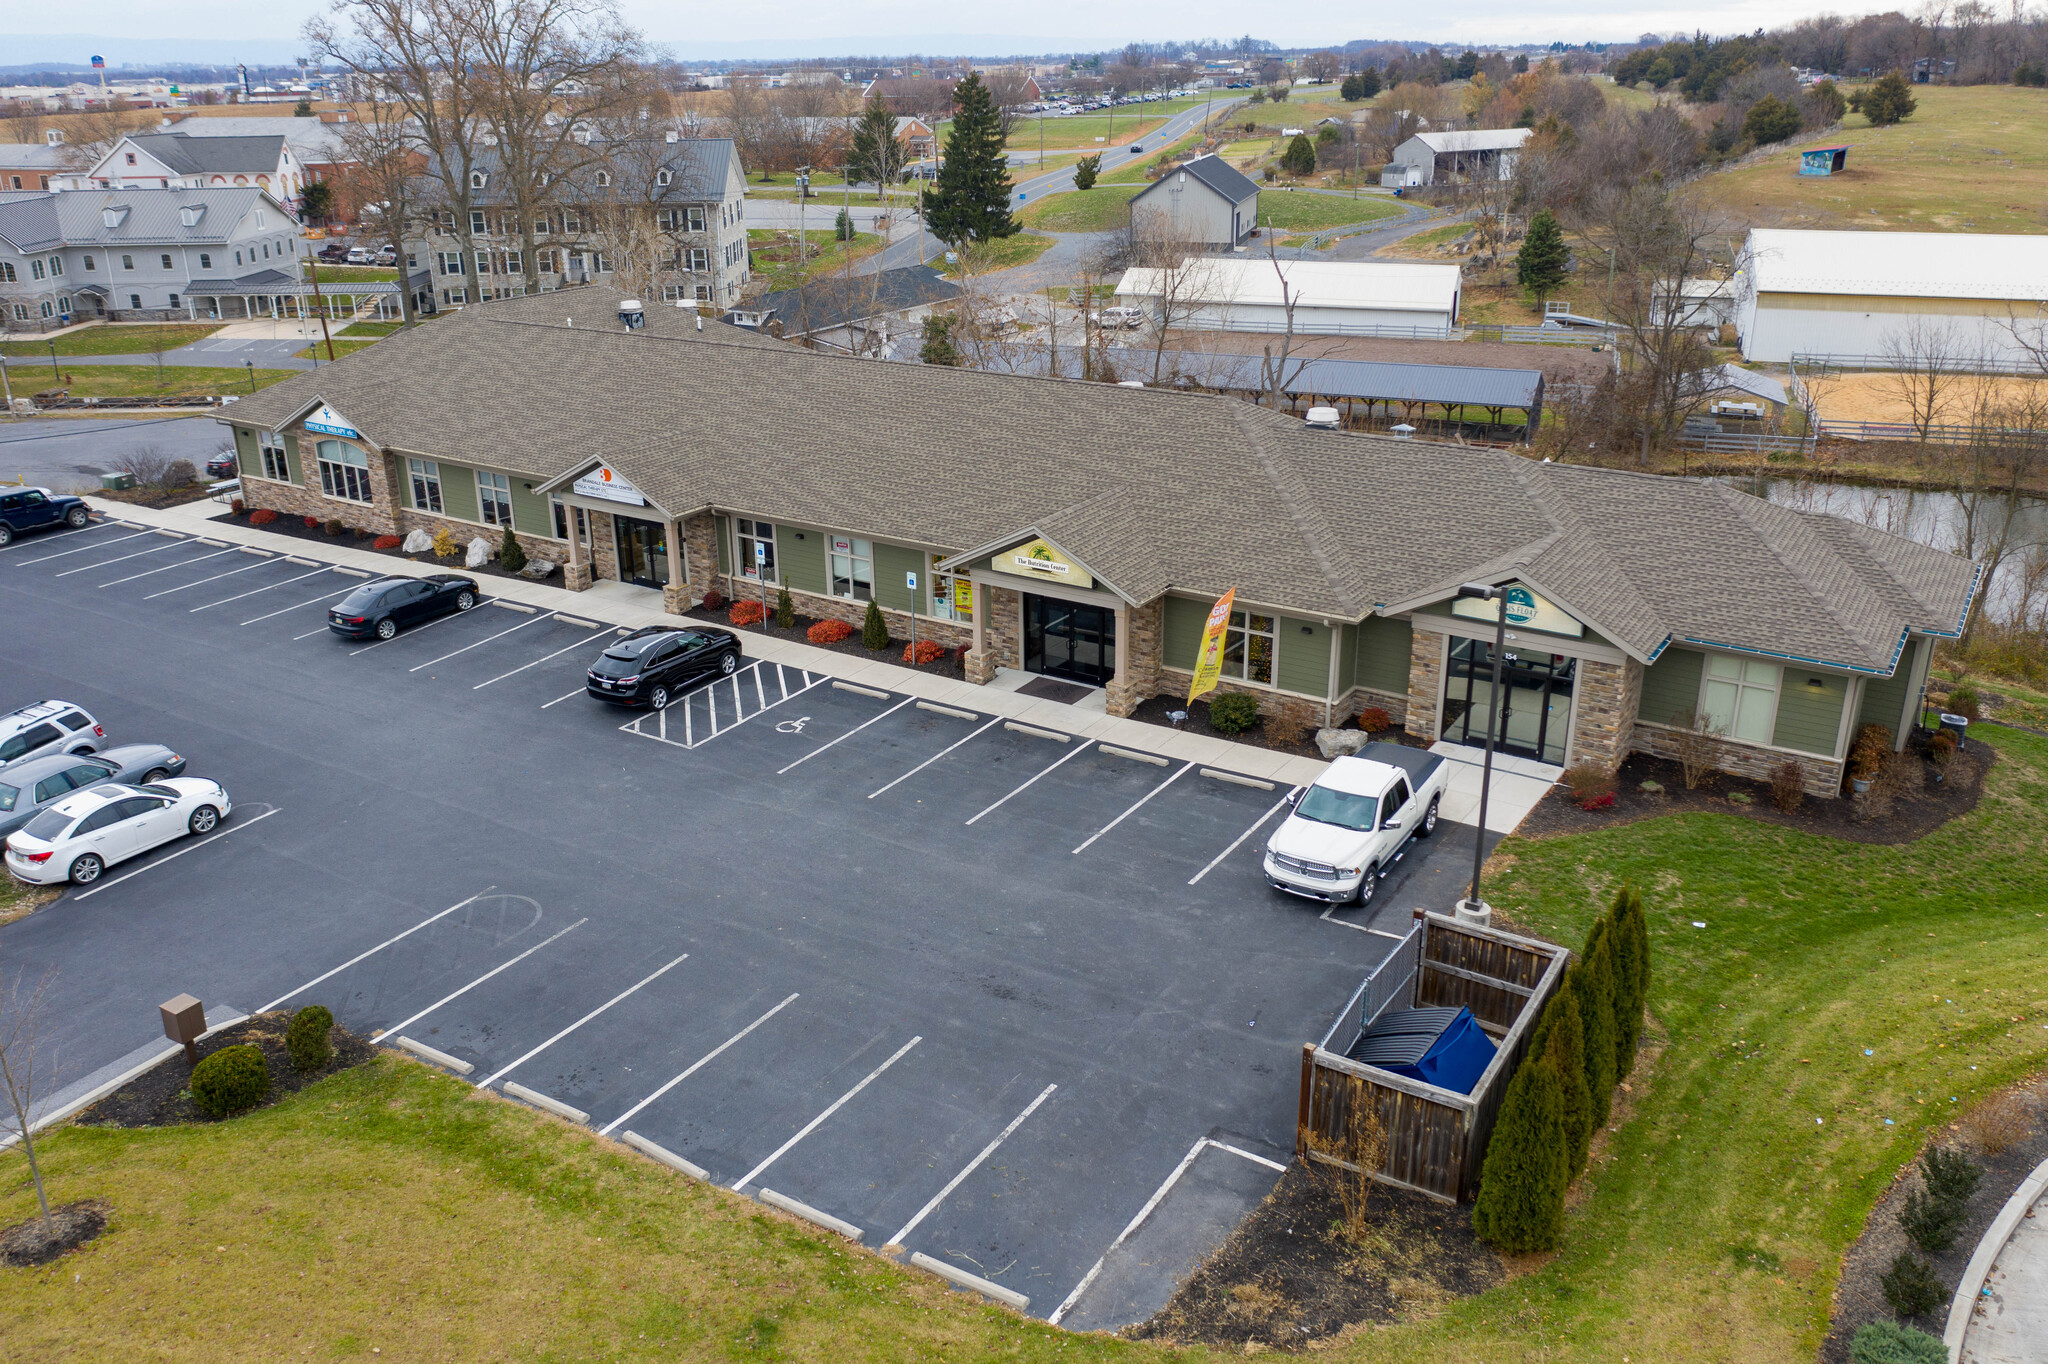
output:
[{"label": "white pickup truck parked beside the lamp post", "polygon": [[1450,766],[1419,748],[1368,743],[1337,758],[1266,840],[1274,889],[1331,905],[1370,903],[1411,838],[1436,834]]}]

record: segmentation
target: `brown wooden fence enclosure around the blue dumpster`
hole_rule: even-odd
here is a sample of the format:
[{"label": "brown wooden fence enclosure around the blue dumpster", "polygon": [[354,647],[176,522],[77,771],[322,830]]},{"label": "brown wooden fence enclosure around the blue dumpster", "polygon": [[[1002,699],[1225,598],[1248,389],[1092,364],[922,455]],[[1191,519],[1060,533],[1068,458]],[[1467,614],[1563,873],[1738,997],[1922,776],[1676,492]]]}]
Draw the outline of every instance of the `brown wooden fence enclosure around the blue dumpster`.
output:
[{"label": "brown wooden fence enclosure around the blue dumpster", "polygon": [[[1323,1040],[1303,1045],[1294,1153],[1346,1165],[1311,1145],[1350,1149],[1352,1124],[1370,1104],[1386,1133],[1386,1155],[1370,1171],[1374,1180],[1440,1202],[1470,1198],[1507,1079],[1569,958],[1571,952],[1548,942],[1440,913],[1419,915],[1415,930],[1366,977]],[[1470,1094],[1343,1055],[1364,1028],[1397,1006],[1473,1010],[1495,1053]]]}]

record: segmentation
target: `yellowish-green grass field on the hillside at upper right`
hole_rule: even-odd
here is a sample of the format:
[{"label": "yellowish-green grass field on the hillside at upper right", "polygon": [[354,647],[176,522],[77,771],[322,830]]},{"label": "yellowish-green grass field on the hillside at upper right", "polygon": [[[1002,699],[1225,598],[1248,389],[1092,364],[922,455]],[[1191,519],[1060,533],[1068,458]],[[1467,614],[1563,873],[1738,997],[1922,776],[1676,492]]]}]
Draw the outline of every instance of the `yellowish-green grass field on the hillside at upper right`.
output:
[{"label": "yellowish-green grass field on the hillside at upper right", "polygon": [[[1759,227],[2042,231],[2048,227],[2048,90],[1915,86],[1894,127],[1849,115],[1829,137],[1786,143],[1706,186]],[[1849,147],[1837,176],[1800,176],[1798,150]]]}]

